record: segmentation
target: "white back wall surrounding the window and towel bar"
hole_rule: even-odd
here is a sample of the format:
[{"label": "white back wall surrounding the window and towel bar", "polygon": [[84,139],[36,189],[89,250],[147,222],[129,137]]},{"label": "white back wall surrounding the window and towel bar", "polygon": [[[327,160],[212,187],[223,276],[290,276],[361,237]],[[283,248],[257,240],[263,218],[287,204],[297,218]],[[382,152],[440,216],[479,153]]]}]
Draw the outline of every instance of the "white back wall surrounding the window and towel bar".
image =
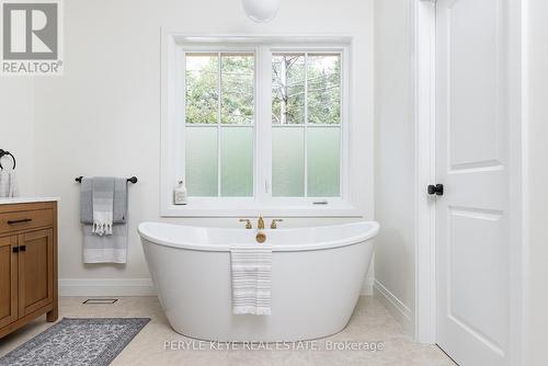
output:
[{"label": "white back wall surrounding the window and towel bar", "polygon": [[[284,1],[269,24],[247,20],[240,0],[71,0],[65,2],[65,76],[36,80],[37,192],[60,203],[59,277],[125,278],[149,274],[136,232],[159,217],[160,30],[192,34],[344,34],[359,60],[355,106],[359,136],[359,192],[373,218],[373,7],[370,0]],[[130,187],[128,263],[83,265],[77,175],[137,175]],[[288,219],[284,225],[344,219]],[[236,226],[235,219],[170,219]],[[130,281],[136,282],[132,283]],[[81,283],[76,282],[79,286]],[[61,283],[62,285],[62,283]]]}]

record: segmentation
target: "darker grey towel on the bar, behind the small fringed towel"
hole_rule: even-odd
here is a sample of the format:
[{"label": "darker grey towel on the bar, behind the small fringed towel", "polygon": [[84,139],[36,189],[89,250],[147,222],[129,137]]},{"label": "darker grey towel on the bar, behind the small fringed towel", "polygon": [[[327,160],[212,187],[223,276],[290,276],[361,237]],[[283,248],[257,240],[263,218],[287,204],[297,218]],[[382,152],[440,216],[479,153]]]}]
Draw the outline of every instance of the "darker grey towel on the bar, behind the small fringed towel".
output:
[{"label": "darker grey towel on the bar, behind the small fringed towel", "polygon": [[[93,178],[82,178],[80,191],[80,221],[93,224]],[[114,179],[113,222],[126,222],[127,214],[127,179]]]}]

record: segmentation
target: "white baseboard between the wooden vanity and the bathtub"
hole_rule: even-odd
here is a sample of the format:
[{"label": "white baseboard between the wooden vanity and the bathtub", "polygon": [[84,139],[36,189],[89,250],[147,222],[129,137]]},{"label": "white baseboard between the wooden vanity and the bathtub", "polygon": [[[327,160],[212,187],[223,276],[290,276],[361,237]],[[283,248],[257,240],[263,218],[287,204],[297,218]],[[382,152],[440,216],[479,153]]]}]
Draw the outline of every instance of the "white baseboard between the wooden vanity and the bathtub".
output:
[{"label": "white baseboard between the wooden vanity and the bathtub", "polygon": [[59,296],[156,296],[150,278],[60,278]]}]

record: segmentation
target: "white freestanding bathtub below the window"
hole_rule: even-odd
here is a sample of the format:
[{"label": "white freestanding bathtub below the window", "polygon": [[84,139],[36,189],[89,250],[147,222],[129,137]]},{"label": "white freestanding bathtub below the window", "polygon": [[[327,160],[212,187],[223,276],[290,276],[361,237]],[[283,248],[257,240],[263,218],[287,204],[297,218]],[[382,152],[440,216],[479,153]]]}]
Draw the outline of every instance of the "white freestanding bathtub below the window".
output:
[{"label": "white freestanding bathtub below the window", "polygon": [[263,245],[256,230],[139,225],[158,297],[173,329],[198,340],[289,342],[344,329],[369,267],[377,222],[263,230],[272,255],[272,314],[235,316],[230,248]]}]

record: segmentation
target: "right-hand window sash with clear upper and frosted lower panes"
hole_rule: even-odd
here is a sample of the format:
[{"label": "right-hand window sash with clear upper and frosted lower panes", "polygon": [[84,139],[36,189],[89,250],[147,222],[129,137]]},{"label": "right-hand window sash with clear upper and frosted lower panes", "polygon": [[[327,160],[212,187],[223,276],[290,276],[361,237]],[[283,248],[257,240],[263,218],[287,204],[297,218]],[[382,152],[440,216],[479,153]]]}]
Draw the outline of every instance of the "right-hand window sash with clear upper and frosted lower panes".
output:
[{"label": "right-hand window sash with clear upper and frosted lower panes", "polygon": [[340,196],[340,54],[273,55],[272,127],[272,195]]}]

